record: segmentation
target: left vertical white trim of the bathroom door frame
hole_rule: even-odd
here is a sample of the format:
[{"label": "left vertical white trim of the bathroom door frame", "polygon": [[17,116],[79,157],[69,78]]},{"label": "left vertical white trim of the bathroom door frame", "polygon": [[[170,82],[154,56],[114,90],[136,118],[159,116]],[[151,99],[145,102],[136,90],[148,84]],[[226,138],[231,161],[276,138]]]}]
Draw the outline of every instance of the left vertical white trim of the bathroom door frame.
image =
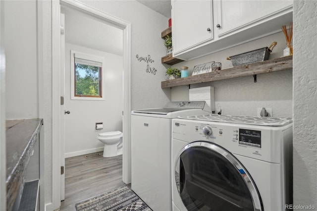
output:
[{"label": "left vertical white trim of the bathroom door frame", "polygon": [[52,208],[56,210],[60,207],[60,5],[57,0],[52,0],[52,71]]}]

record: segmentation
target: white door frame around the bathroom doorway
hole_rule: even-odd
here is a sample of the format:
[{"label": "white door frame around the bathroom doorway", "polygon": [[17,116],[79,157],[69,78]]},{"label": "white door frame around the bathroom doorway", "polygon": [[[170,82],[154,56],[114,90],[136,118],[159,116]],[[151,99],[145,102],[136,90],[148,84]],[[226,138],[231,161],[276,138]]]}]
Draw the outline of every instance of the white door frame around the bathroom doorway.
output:
[{"label": "white door frame around the bathroom doorway", "polygon": [[52,175],[52,206],[60,206],[60,163],[61,163],[61,122],[60,113],[60,5],[72,7],[92,16],[105,20],[123,31],[123,157],[122,157],[122,180],[131,183],[131,23],[102,12],[91,6],[75,0],[52,1],[52,98],[53,98],[53,175]]}]

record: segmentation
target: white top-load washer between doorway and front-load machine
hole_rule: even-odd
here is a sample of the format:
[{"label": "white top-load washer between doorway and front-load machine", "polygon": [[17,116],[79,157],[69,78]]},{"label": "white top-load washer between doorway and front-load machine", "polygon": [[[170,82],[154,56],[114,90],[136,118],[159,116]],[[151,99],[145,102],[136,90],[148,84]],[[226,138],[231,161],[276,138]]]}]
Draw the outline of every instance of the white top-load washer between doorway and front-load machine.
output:
[{"label": "white top-load washer between doorway and front-load machine", "polygon": [[132,111],[131,189],[152,210],[172,210],[172,118],[208,113],[205,101],[169,102],[163,108]]}]

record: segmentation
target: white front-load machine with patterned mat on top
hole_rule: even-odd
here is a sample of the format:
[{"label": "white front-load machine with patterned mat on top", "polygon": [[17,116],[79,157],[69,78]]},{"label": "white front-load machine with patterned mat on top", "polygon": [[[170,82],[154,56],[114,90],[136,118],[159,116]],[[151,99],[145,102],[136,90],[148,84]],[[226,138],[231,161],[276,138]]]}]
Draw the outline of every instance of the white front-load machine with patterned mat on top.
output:
[{"label": "white front-load machine with patterned mat on top", "polygon": [[292,204],[289,118],[172,120],[173,211],[284,211]]}]

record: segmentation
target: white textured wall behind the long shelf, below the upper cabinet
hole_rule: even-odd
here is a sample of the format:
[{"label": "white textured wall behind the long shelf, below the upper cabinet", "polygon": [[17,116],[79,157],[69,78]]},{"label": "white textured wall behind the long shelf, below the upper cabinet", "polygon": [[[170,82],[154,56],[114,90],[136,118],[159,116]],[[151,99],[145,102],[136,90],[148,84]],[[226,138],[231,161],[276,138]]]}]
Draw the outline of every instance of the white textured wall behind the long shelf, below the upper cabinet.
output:
[{"label": "white textured wall behind the long shelf, below the upper cabinet", "polygon": [[[232,67],[231,61],[226,60],[227,56],[252,50],[268,47],[273,41],[277,46],[270,54],[271,58],[283,56],[285,37],[282,32],[273,34],[246,44],[242,44],[224,51],[212,53],[190,61],[184,61],[173,65],[180,68],[189,67],[189,74],[195,65],[210,61],[222,63],[222,69]],[[253,76],[232,78],[220,81],[213,81],[202,84],[193,84],[190,88],[213,86],[215,90],[215,105],[222,107],[224,115],[257,115],[258,107],[272,108],[273,116],[292,116],[292,71],[280,71],[257,75],[257,82],[254,83]],[[188,100],[188,86],[173,87],[172,101]]]}]

